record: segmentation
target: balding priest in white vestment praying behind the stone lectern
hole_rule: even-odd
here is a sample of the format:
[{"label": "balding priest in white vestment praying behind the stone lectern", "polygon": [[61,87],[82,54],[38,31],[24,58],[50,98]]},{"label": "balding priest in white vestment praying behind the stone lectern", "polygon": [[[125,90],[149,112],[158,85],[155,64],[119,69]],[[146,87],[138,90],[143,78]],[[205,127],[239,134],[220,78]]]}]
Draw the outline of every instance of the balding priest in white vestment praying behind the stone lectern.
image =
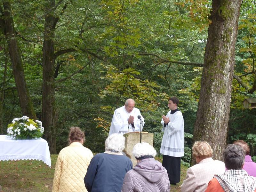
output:
[{"label": "balding priest in white vestment praying behind the stone lectern", "polygon": [[135,108],[135,101],[127,99],[123,107],[117,108],[114,112],[109,135],[113,133],[125,134],[127,132],[140,132],[140,119],[141,117],[141,130],[144,126],[144,118],[140,114],[140,110]]}]

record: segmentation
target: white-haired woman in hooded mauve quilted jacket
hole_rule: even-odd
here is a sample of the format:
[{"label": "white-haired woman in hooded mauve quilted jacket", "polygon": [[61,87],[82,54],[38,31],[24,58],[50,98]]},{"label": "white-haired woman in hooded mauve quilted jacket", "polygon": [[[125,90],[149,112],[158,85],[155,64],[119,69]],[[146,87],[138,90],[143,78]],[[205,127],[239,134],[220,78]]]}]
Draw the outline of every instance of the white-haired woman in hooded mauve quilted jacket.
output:
[{"label": "white-haired woman in hooded mauve quilted jacket", "polygon": [[137,165],[124,177],[122,192],[170,192],[166,169],[156,161],[156,150],[148,143],[137,143],[132,154]]}]

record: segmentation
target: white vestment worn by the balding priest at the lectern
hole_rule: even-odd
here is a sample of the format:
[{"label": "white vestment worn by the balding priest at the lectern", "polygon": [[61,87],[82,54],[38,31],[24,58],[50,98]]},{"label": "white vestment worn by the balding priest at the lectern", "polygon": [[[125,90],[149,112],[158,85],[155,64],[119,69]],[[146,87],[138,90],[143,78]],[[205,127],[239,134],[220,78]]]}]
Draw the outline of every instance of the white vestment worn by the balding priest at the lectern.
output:
[{"label": "white vestment worn by the balding priest at the lectern", "polygon": [[[117,108],[114,112],[110,130],[109,130],[109,135],[113,133],[119,133],[119,134],[125,134],[127,132],[140,132],[140,120],[138,119],[138,116],[141,116],[141,129],[144,126],[144,118],[140,114],[140,110],[138,108],[133,108],[132,112],[129,113],[126,111],[125,107],[120,107]],[[129,116],[134,117],[133,125],[128,124],[128,118]]]}]

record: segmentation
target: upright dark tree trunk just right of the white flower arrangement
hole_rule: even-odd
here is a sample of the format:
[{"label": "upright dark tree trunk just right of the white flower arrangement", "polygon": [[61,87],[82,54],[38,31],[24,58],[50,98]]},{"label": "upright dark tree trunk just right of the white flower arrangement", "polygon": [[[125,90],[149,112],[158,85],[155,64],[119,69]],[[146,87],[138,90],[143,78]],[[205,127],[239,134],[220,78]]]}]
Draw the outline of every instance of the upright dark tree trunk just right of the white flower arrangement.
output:
[{"label": "upright dark tree trunk just right of the white flower arrangement", "polygon": [[44,43],[43,43],[43,99],[42,116],[45,139],[48,141],[50,152],[56,154],[56,122],[58,119],[54,92],[54,30],[55,17],[53,10],[55,0],[45,3]]}]

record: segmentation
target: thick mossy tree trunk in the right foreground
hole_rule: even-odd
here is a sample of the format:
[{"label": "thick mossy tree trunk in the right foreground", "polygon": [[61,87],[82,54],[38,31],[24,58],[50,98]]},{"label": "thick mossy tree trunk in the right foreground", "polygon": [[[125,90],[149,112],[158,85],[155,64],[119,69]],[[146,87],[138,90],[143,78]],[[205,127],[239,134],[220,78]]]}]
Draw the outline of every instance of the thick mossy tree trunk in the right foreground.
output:
[{"label": "thick mossy tree trunk in the right foreground", "polygon": [[[213,0],[193,140],[209,142],[213,158],[226,146],[241,0]],[[195,164],[192,159],[191,164]]]}]

